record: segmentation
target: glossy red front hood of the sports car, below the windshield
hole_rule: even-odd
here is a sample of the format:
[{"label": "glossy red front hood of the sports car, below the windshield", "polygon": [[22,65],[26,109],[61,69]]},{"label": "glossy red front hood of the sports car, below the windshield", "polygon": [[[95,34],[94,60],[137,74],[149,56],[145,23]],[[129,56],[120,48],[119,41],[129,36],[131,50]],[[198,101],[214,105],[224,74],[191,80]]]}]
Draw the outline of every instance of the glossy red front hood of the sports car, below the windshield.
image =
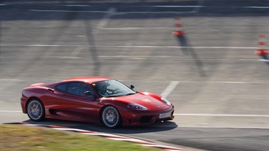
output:
[{"label": "glossy red front hood of the sports car, below the windshield", "polygon": [[160,111],[170,108],[170,106],[165,104],[161,99],[155,99],[152,96],[148,96],[146,94],[138,93],[128,96],[120,96],[117,97],[117,99],[128,104],[133,103],[145,106],[148,108],[148,111]]}]

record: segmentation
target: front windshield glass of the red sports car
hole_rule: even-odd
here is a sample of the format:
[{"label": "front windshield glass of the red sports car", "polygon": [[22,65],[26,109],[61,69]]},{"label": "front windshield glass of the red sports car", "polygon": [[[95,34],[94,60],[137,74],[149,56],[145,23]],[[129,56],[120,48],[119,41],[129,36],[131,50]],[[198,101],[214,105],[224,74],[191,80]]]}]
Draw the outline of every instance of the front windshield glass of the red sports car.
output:
[{"label": "front windshield glass of the red sports car", "polygon": [[112,97],[112,96],[126,96],[131,94],[136,94],[136,91],[133,91],[125,84],[118,82],[115,79],[110,79],[101,82],[92,83],[94,89],[101,96]]}]

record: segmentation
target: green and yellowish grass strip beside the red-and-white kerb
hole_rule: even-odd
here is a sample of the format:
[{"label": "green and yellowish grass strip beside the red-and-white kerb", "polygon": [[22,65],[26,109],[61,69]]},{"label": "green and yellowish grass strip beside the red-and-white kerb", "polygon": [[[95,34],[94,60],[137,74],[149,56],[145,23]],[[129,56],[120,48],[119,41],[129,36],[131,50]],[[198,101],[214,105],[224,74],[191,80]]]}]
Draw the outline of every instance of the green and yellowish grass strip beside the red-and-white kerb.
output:
[{"label": "green and yellowish grass strip beside the red-and-white kerb", "polygon": [[26,125],[0,125],[0,150],[117,150],[156,151],[131,142]]}]

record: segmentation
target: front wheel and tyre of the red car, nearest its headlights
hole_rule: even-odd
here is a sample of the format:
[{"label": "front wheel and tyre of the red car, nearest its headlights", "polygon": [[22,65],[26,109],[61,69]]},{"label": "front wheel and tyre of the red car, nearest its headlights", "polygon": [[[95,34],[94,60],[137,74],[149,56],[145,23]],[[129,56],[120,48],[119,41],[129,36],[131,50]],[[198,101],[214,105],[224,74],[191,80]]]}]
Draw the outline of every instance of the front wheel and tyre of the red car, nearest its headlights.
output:
[{"label": "front wheel and tyre of the red car, nearest its headlights", "polygon": [[101,111],[101,122],[106,128],[119,128],[121,126],[121,114],[114,106],[106,106]]}]

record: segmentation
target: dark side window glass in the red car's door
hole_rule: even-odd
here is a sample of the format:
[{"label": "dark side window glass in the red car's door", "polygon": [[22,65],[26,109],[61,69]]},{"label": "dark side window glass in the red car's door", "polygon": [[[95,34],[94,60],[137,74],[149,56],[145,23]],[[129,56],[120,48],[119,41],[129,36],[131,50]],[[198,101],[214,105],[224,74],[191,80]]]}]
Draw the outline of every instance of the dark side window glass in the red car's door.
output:
[{"label": "dark side window glass in the red car's door", "polygon": [[[93,92],[88,84],[82,82],[72,82],[69,84],[67,92],[78,96],[84,96],[85,91]],[[93,96],[87,96],[93,98]]]}]

